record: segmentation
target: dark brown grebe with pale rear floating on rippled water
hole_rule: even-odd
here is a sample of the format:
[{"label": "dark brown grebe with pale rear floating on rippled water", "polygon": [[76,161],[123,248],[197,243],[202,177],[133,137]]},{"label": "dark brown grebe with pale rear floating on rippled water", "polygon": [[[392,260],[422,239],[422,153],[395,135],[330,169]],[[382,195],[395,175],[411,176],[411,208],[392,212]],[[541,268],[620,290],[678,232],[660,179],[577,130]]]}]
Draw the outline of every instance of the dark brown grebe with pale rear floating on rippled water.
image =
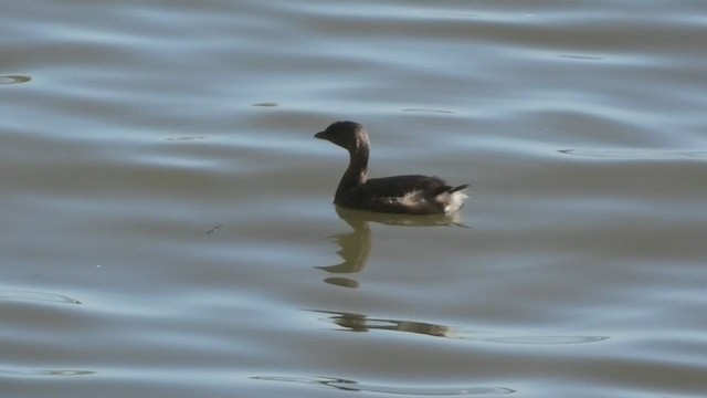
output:
[{"label": "dark brown grebe with pale rear floating on rippled water", "polygon": [[452,187],[441,178],[419,175],[368,179],[370,140],[356,122],[336,122],[315,137],[349,151],[349,167],[336,189],[334,202],[351,209],[404,214],[451,213],[464,205],[468,184]]}]

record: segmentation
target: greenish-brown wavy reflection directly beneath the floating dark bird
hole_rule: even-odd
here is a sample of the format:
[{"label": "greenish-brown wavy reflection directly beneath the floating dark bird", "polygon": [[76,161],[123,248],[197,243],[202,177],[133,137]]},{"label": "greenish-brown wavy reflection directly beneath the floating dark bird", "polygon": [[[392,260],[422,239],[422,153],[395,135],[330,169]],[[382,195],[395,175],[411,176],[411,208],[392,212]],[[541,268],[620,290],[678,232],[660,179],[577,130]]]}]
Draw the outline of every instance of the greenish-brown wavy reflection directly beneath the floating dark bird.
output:
[{"label": "greenish-brown wavy reflection directly beneath the floating dark bird", "polygon": [[[370,222],[400,227],[467,228],[461,223],[458,212],[453,214],[408,216],[350,210],[341,207],[337,207],[336,212],[354,231],[329,237],[329,239],[339,245],[340,249],[337,251],[337,254],[339,254],[344,261],[338,264],[315,268],[333,274],[357,273],[366,268],[368,255],[371,251],[372,233],[369,226]],[[324,281],[344,287],[358,287],[359,285],[358,281],[344,276],[327,277]]]}]

